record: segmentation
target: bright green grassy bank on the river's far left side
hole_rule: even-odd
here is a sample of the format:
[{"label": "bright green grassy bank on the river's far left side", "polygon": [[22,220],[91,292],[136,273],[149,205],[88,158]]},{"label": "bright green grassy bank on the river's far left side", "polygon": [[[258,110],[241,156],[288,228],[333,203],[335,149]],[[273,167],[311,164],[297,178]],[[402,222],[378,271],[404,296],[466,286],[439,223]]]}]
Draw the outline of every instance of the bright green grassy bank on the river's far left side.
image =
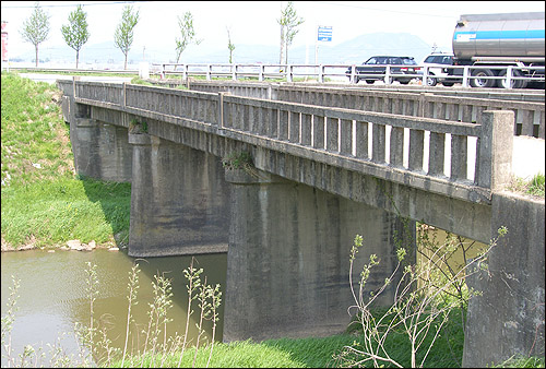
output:
[{"label": "bright green grassy bank on the river's far left side", "polygon": [[60,97],[2,72],[2,250],[127,242],[130,184],[75,176]]}]

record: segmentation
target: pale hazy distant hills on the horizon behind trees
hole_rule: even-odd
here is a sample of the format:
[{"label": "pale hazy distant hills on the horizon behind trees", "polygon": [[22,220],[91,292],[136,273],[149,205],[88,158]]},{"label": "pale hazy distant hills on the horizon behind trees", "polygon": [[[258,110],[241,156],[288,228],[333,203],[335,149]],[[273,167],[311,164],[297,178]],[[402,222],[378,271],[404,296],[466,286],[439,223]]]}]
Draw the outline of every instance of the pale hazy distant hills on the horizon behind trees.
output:
[{"label": "pale hazy distant hills on the horizon behind trees", "polygon": [[[235,45],[234,62],[237,63],[278,63],[278,46],[273,45]],[[373,55],[397,55],[414,57],[420,62],[432,49],[420,37],[407,33],[373,33],[356,36],[345,43],[330,46],[329,43],[319,43],[318,62],[322,64],[352,64],[363,63]],[[443,51],[450,49],[442,48]],[[19,56],[11,56],[11,60],[33,61],[34,51]],[[49,62],[75,63],[75,51],[67,45],[44,46],[39,50],[39,59]],[[143,49],[134,46],[129,52],[129,62],[136,64],[145,59],[149,62],[174,62],[175,50]],[[191,46],[183,53],[181,62],[197,63],[227,63],[229,51],[226,48],[205,48]],[[313,64],[316,60],[316,45],[299,46],[288,49],[289,63]],[[114,41],[84,45],[80,52],[80,63],[111,64],[123,63],[123,53],[115,47]],[[114,67],[112,67],[114,68]]]}]

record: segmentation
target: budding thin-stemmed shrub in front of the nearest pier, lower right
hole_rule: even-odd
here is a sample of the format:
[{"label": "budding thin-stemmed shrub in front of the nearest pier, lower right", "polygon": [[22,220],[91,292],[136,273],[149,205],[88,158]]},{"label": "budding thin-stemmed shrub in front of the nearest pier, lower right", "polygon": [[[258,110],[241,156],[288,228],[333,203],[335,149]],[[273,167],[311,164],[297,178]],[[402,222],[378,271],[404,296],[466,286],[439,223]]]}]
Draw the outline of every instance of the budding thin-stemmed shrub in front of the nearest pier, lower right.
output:
[{"label": "budding thin-stemmed shrub in front of the nearest pier, lower right", "polygon": [[[506,234],[507,229],[501,228],[498,231],[498,237],[503,237]],[[446,253],[451,252],[449,242],[439,247],[435,254],[425,262],[405,265],[402,277],[394,285],[392,306],[384,313],[378,316],[371,312],[371,305],[389,285],[394,283],[394,277],[402,265],[406,251],[404,248],[397,249],[399,262],[394,272],[384,281],[378,291],[367,296],[364,287],[370,276],[371,269],[378,264],[377,257],[370,255],[369,263],[364,265],[360,273],[359,287],[356,293],[353,286],[352,271],[355,255],[364,245],[361,236],[357,235],[349,258],[349,286],[355,300],[355,306],[351,308],[357,309],[356,317],[361,328],[364,343],[345,346],[335,357],[337,364],[349,367],[371,364],[373,367],[391,365],[403,368],[401,358],[395,358],[390,354],[385,342],[391,336],[405,335],[411,346],[411,367],[423,367],[435,342],[447,324],[451,311],[461,307],[461,300],[466,302],[472,295],[477,294],[471,290],[467,295],[455,295],[456,298],[452,298],[452,291],[459,290],[458,288],[465,278],[478,271],[476,265],[487,270],[487,255],[496,246],[497,240],[498,238],[492,240],[487,250],[470,261],[459,272],[444,275],[446,278],[441,283],[439,283],[440,279],[434,277],[434,272],[438,267],[437,261],[441,260]]]}]

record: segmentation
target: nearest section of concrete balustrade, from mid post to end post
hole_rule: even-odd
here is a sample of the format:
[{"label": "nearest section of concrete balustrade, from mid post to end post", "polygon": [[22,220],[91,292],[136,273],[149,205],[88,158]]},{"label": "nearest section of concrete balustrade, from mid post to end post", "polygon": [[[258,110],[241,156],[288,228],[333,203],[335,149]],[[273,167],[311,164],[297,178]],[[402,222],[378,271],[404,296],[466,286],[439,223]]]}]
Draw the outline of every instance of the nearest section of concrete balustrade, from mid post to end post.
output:
[{"label": "nearest section of concrete balustrade, from mid post to end post", "polygon": [[[479,186],[474,178],[475,168],[467,168],[468,150],[476,158],[473,164],[479,162],[478,124],[229,95],[223,97],[223,128]],[[451,150],[446,153],[449,146]],[[444,167],[446,163],[450,166]]]}]

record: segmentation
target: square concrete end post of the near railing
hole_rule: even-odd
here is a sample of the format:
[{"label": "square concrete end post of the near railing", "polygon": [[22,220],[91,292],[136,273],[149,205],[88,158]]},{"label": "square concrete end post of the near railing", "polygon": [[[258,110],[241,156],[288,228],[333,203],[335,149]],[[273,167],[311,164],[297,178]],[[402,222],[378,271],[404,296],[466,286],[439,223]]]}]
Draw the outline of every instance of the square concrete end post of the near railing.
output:
[{"label": "square concrete end post of the near railing", "polygon": [[479,187],[499,190],[509,183],[512,175],[512,147],[514,132],[512,110],[485,110],[482,116],[482,134],[478,138],[475,182]]}]

